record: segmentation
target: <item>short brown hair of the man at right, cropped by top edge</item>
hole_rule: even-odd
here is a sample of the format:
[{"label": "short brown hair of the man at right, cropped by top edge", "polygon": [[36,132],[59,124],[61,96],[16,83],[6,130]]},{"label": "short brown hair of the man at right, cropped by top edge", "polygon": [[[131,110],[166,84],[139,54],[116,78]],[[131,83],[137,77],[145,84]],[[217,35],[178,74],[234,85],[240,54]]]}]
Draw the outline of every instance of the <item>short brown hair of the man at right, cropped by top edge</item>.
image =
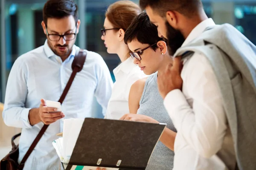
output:
[{"label": "short brown hair of the man at right, cropped by top edge", "polygon": [[167,11],[177,11],[186,17],[192,17],[195,12],[203,9],[201,0],[140,0],[142,10],[148,6],[161,17],[165,17]]}]

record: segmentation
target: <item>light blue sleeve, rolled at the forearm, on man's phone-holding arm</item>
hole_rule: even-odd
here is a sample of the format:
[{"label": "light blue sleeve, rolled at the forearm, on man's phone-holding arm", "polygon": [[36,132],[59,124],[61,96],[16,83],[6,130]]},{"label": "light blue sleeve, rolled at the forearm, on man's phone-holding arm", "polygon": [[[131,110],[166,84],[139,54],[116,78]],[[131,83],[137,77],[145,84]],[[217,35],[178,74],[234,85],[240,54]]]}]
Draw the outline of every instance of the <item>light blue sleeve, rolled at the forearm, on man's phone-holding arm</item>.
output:
[{"label": "light blue sleeve, rolled at the forearm, on man's phone-holding arm", "polygon": [[29,111],[31,108],[25,108],[28,93],[27,75],[27,66],[19,57],[12,66],[6,86],[3,120],[7,126],[32,127],[29,123]]}]

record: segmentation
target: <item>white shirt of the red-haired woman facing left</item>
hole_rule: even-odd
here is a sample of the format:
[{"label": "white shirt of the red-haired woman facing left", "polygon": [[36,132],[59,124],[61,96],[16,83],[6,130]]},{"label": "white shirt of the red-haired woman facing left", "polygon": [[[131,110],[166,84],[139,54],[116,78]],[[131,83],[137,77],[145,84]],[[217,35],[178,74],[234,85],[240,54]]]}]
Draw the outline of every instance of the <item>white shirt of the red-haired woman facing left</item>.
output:
[{"label": "white shirt of the red-haired woman facing left", "polygon": [[139,79],[147,77],[138,65],[129,57],[119,64],[114,70],[116,82],[112,88],[112,95],[108,102],[105,119],[120,119],[129,112],[128,98],[131,85]]}]

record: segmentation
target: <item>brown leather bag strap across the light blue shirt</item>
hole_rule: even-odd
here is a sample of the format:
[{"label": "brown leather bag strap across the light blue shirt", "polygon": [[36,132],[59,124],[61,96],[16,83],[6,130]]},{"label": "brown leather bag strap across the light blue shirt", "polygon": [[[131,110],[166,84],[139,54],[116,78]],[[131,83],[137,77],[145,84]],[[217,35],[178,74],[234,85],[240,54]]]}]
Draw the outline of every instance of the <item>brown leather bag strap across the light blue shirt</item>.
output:
[{"label": "brown leather bag strap across the light blue shirt", "polygon": [[[67,92],[69,91],[71,85],[72,85],[72,82],[76,76],[76,73],[81,71],[83,69],[83,66],[84,66],[84,62],[85,62],[85,59],[86,59],[86,51],[80,49],[79,50],[79,53],[76,54],[74,60],[73,60],[73,63],[72,63],[72,69],[73,69],[73,72],[70,76],[70,79],[68,80],[67,82],[67,85],[66,87],[64,88],[64,91],[62,92],[61,94],[61,97],[59,99],[58,102],[60,102],[62,104],[62,102],[64,101],[66,95],[67,95]],[[20,162],[20,165],[18,167],[18,169],[22,170],[23,167],[24,167],[24,164],[26,162],[26,160],[28,159],[29,155],[32,153],[32,151],[34,150],[35,146],[38,144],[39,140],[41,139],[41,137],[44,135],[44,132],[47,130],[47,127],[49,125],[44,125],[42,127],[42,129],[40,130],[40,132],[38,133],[38,136],[36,136],[35,140],[33,141],[33,143],[31,144],[31,146],[29,147],[29,150],[26,152],[25,156],[23,157],[23,159],[21,160]]]}]

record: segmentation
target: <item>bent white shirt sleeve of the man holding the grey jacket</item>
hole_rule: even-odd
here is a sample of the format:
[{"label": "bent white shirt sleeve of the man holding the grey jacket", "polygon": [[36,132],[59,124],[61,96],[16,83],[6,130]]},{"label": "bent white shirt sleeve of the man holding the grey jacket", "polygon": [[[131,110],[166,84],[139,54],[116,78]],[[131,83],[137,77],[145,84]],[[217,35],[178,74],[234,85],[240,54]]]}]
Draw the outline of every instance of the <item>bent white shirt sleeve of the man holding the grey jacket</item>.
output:
[{"label": "bent white shirt sleeve of the man holding the grey jacket", "polygon": [[164,99],[164,105],[186,143],[209,158],[221,148],[227,129],[223,100],[209,61],[196,54],[189,65],[183,79],[183,88],[189,96],[173,90]]}]

